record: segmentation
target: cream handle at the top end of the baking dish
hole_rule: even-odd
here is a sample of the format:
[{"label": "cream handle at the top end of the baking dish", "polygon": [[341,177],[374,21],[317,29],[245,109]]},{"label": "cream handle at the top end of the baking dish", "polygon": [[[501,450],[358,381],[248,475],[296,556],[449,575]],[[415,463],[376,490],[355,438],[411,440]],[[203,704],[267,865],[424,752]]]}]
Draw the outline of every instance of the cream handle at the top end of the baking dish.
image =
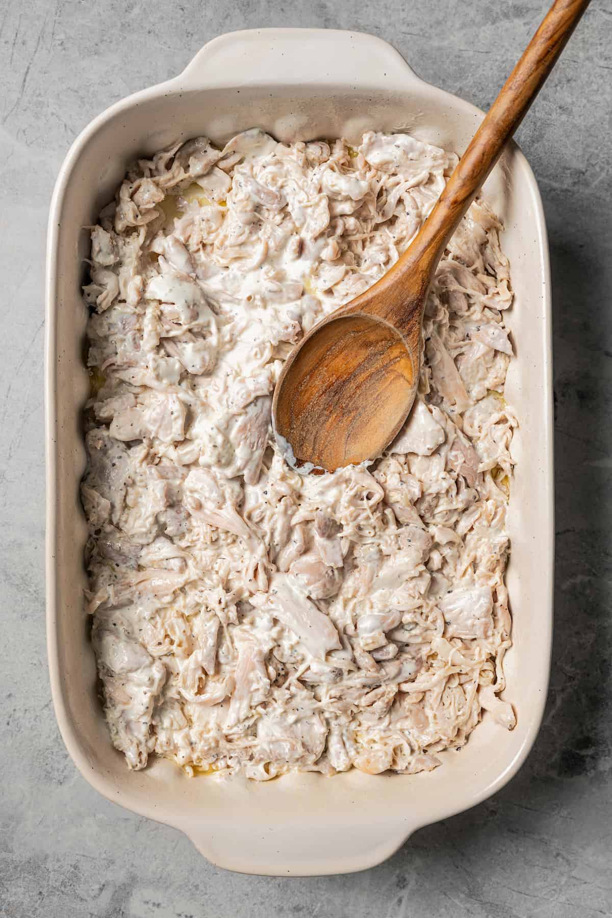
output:
[{"label": "cream handle at the top end of the baking dish", "polygon": [[389,90],[423,81],[387,41],[331,28],[251,28],[209,41],[176,82],[184,89],[237,84],[351,83]]}]

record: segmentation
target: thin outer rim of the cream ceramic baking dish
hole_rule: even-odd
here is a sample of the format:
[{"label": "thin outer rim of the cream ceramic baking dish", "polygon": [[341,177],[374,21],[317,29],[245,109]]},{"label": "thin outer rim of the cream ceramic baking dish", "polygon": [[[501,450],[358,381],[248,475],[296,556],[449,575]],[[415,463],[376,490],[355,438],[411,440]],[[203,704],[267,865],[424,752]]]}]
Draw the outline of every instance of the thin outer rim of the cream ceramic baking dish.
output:
[{"label": "thin outer rim of the cream ceramic baking dish", "polygon": [[[331,33],[331,35],[330,35]],[[209,80],[206,82],[203,79],[202,75],[202,66],[206,62],[206,59],[210,57],[211,53],[223,51],[228,47],[229,43],[235,43],[237,41],[244,41],[246,44],[249,44],[252,39],[257,38],[261,40],[263,37],[264,40],[284,40],[287,39],[307,39],[307,40],[320,40],[323,37],[327,39],[332,38],[333,35],[341,37],[342,40],[346,40],[347,37],[351,39],[357,39],[363,43],[363,45],[370,44],[372,47],[375,46],[376,50],[379,53],[384,55],[384,58],[388,60],[391,68],[398,68],[397,73],[401,73],[406,80],[406,76],[410,74],[410,79],[415,83],[420,84],[421,86],[427,86],[429,90],[433,90],[440,99],[444,99],[447,103],[452,103],[457,105],[460,103],[462,110],[465,112],[471,111],[475,117],[482,118],[484,113],[478,109],[476,106],[471,105],[470,103],[465,102],[459,96],[452,95],[446,91],[440,89],[439,87],[428,84],[426,81],[422,80],[417,76],[412,68],[406,63],[404,58],[396,51],[388,42],[383,39],[379,39],[372,35],[367,35],[362,32],[352,32],[348,30],[336,30],[336,29],[318,29],[318,28],[269,28],[269,29],[247,29],[237,32],[229,32],[224,35],[218,36],[215,39],[212,39],[206,45],[199,50],[191,62],[187,64],[184,71],[179,73],[177,76],[172,77],[172,79],[162,82],[161,84],[152,85],[146,89],[143,89],[135,94],[128,95],[126,98],[119,100],[112,106],[106,108],[100,115],[96,116],[78,135],[76,140],[73,141],[70,150],[68,151],[64,162],[61,165],[61,170],[54,187],[53,195],[51,198],[50,204],[50,218],[49,218],[49,229],[48,229],[48,244],[47,244],[47,258],[46,258],[46,304],[45,304],[45,431],[46,431],[46,488],[47,488],[47,512],[46,512],[46,588],[47,588],[47,612],[46,612],[46,621],[47,621],[47,645],[48,645],[48,659],[49,659],[49,668],[50,668],[50,687],[51,695],[53,699],[53,706],[57,718],[57,722],[61,731],[61,736],[66,745],[66,748],[72,757],[72,761],[79,769],[83,777],[96,789],[98,790],[107,800],[114,800],[115,802],[120,802],[122,806],[125,806],[131,812],[137,812],[139,815],[147,816],[152,819],[156,819],[160,822],[170,824],[175,828],[180,829],[185,832],[195,841],[195,844],[200,848],[204,853],[204,841],[201,844],[198,844],[197,839],[194,834],[189,832],[180,819],[172,821],[167,818],[167,814],[163,816],[157,814],[156,803],[154,801],[142,802],[137,799],[130,798],[128,790],[125,788],[117,789],[112,778],[107,778],[106,775],[100,770],[96,770],[84,755],[82,748],[77,740],[77,734],[75,731],[72,718],[68,711],[68,706],[66,703],[66,697],[64,695],[63,689],[61,687],[61,678],[59,670],[59,644],[58,644],[58,609],[57,609],[57,589],[58,589],[58,567],[56,565],[56,551],[57,551],[57,539],[58,539],[58,514],[57,514],[57,457],[58,457],[58,431],[57,431],[57,422],[56,422],[56,411],[57,411],[57,378],[56,378],[56,361],[58,357],[57,351],[57,324],[56,324],[56,315],[58,309],[58,297],[56,295],[57,284],[59,281],[58,275],[58,241],[60,236],[59,222],[61,217],[61,209],[63,205],[63,199],[66,193],[66,189],[71,180],[72,170],[78,161],[79,157],[83,153],[85,145],[95,138],[95,134],[101,129],[108,120],[117,116],[121,112],[127,112],[133,106],[138,106],[141,102],[154,99],[161,95],[166,94],[180,94],[185,89],[206,89],[209,87],[215,88],[215,81]],[[279,87],[289,84],[291,81],[288,81],[284,77],[277,81]],[[325,74],[323,78],[318,78],[313,82],[318,84],[327,84],[328,81],[325,79]],[[221,84],[223,85],[223,84]],[[221,88],[219,85],[218,88]],[[350,86],[354,85],[348,80],[345,80],[344,84],[334,84],[337,86]],[[546,419],[545,430],[542,431],[543,439],[545,441],[545,454],[548,459],[548,476],[547,480],[549,482],[549,487],[547,488],[546,494],[546,508],[548,520],[551,523],[551,539],[548,541],[546,546],[546,577],[547,577],[547,586],[546,593],[548,597],[548,609],[547,612],[547,621],[548,621],[548,643],[549,643],[549,653],[548,653],[548,666],[546,672],[542,675],[543,686],[545,689],[548,688],[549,684],[549,674],[550,674],[550,661],[551,661],[551,633],[552,633],[552,583],[553,583],[553,552],[554,552],[554,509],[553,509],[553,486],[554,486],[554,476],[553,476],[553,451],[552,451],[552,410],[551,410],[551,400],[552,400],[552,376],[551,376],[551,272],[550,272],[550,258],[549,258],[549,248],[546,235],[546,224],[544,218],[544,211],[542,207],[542,202],[540,198],[540,192],[538,185],[536,183],[535,177],[529,162],[526,160],[522,151],[519,151],[516,144],[514,145],[515,154],[518,157],[518,162],[520,162],[520,167],[523,170],[526,181],[529,185],[529,194],[532,199],[532,204],[537,215],[537,239],[539,246],[539,263],[541,265],[541,278],[539,279],[539,285],[541,286],[540,296],[541,296],[541,305],[543,309],[543,324],[544,324],[544,334],[545,334],[545,344],[546,344],[546,361],[545,365],[542,367],[542,383],[543,383],[543,396],[545,398],[544,406],[544,416]],[[389,839],[388,845],[379,845],[372,851],[372,856],[367,858],[361,856],[359,862],[354,864],[344,864],[342,869],[343,871],[352,871],[359,870],[371,867],[375,864],[380,863],[385,857],[392,855],[395,850],[402,845],[406,838],[410,834],[417,831],[418,828],[421,828],[424,825],[438,822],[440,819],[448,818],[451,815],[455,815],[463,810],[466,810],[475,804],[481,802],[482,800],[487,799],[493,793],[503,788],[507,781],[514,777],[517,773],[519,767],[521,767],[529,755],[529,751],[535,743],[537,734],[540,729],[541,720],[544,712],[544,705],[546,701],[546,691],[542,692],[542,697],[533,701],[534,708],[538,709],[536,711],[537,716],[533,718],[532,726],[528,733],[526,733],[525,738],[521,746],[518,748],[516,755],[512,760],[508,761],[506,767],[500,772],[500,774],[495,778],[494,781],[490,782],[483,788],[467,800],[467,794],[464,795],[464,799],[459,801],[458,805],[447,806],[444,809],[444,812],[440,815],[434,815],[429,820],[422,820],[417,823],[411,823],[409,827],[406,827],[406,834],[403,837],[399,838],[394,837]],[[384,848],[384,850],[383,850]],[[206,851],[206,856],[209,859],[211,855],[209,851]],[[224,864],[224,866],[228,866]],[[232,869],[244,870],[244,872],[251,872],[248,866],[231,866]],[[273,871],[270,871],[273,873]],[[306,868],[303,872],[301,871],[291,871],[295,875],[307,875],[319,872],[329,872],[328,870],[320,869],[310,869]]]}]

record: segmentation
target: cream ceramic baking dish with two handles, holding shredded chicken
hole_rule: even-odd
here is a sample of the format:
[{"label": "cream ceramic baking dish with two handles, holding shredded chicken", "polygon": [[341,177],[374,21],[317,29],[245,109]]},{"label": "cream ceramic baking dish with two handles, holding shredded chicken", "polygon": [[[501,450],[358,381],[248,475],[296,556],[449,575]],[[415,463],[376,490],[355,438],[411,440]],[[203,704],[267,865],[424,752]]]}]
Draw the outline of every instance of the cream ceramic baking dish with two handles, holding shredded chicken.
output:
[{"label": "cream ceramic baking dish with two handles, holding shredded chicken", "polygon": [[406,129],[462,151],[482,118],[420,80],[381,39],[325,29],[262,29],[214,39],[184,73],[107,109],[72,145],[55,187],[47,263],[47,626],[50,680],[64,742],[83,776],[109,800],[187,834],[209,860],[249,873],[307,875],[359,870],[391,855],[418,827],[500,789],[534,742],[548,686],[552,618],[551,298],[540,195],[512,144],[485,193],[503,218],[515,306],[506,320],[517,358],[507,400],[521,422],[508,528],[507,583],[514,646],[505,697],[511,733],[488,715],[461,753],[416,776],[290,775],[268,783],[186,778],[165,760],[130,772],[110,744],[96,694],[83,611],[85,523],[78,485],[86,310],[80,286],[89,237],[128,161],[174,140],[206,134],[223,143],[260,126],[278,140]]}]

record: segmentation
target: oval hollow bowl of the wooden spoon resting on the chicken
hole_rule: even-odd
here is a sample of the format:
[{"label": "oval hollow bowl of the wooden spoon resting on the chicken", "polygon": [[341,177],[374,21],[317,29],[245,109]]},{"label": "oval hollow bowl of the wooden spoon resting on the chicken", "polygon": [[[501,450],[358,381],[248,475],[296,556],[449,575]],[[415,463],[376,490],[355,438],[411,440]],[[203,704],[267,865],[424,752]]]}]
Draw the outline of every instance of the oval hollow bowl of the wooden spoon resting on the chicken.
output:
[{"label": "oval hollow bowl of the wooden spoon resting on the chicken", "polygon": [[273,398],[277,439],[290,444],[284,453],[304,472],[379,455],[406,420],[417,379],[393,325],[367,313],[334,313],[284,364]]}]

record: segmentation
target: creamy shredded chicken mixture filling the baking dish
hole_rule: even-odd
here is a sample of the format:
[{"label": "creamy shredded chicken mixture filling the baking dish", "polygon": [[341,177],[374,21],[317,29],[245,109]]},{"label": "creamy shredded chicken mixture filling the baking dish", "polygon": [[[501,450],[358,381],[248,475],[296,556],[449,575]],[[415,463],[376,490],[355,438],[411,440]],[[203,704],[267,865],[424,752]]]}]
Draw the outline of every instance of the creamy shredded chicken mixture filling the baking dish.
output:
[{"label": "creamy shredded chicken mixture filling the baking dish", "polygon": [[514,726],[512,293],[483,200],[388,452],[301,476],[271,430],[286,355],[395,262],[456,162],[406,134],[198,138],[136,163],[92,229],[87,599],[128,767],[410,774],[483,710]]}]

